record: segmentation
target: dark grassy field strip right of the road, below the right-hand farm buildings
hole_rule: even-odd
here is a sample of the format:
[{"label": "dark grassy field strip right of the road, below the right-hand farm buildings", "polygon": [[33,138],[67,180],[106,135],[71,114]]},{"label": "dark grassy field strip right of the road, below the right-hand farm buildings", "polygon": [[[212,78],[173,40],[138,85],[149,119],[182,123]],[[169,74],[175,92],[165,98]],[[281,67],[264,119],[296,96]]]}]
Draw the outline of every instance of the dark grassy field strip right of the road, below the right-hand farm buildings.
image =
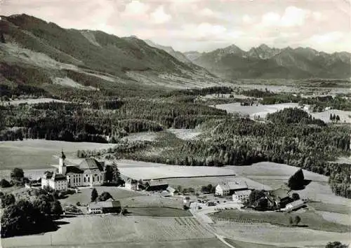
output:
[{"label": "dark grassy field strip right of the road, below the right-hand farm buildings", "polygon": [[289,226],[289,217],[300,216],[301,221],[299,226],[305,226],[309,229],[324,230],[330,232],[349,233],[350,226],[345,226],[339,223],[326,221],[320,214],[316,212],[305,210],[301,212],[293,212],[291,214],[285,212],[257,212],[251,210],[223,210],[211,214],[211,218],[216,222],[219,218],[232,221],[248,221],[249,223],[271,223],[279,226]]}]

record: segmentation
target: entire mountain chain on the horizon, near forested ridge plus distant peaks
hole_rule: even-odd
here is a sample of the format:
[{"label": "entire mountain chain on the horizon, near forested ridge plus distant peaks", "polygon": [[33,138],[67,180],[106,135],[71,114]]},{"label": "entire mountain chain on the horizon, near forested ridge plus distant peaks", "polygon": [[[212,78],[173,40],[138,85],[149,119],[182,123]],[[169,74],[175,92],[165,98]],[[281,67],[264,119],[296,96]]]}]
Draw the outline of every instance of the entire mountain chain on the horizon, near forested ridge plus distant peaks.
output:
[{"label": "entire mountain chain on the horizon, near forested ridge plus distant peaks", "polygon": [[[136,36],[63,29],[30,15],[1,16],[0,84],[132,92],[143,85],[192,88],[235,78],[350,78],[350,53],[312,48],[180,53]],[[224,81],[225,81],[224,79]],[[1,85],[0,85],[1,86]]]}]

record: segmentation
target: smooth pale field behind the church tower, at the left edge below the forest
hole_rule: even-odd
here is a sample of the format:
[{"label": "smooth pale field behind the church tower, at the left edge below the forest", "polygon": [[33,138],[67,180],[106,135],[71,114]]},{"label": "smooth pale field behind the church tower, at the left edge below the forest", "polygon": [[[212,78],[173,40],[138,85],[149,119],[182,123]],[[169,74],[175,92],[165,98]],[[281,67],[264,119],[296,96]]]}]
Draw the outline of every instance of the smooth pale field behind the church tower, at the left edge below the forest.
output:
[{"label": "smooth pale field behind the church tower, at the left edge below the forest", "polygon": [[0,170],[45,169],[57,164],[58,155],[64,149],[67,157],[75,157],[77,150],[107,149],[113,144],[89,142],[60,142],[45,139],[26,139],[15,142],[0,142]]}]

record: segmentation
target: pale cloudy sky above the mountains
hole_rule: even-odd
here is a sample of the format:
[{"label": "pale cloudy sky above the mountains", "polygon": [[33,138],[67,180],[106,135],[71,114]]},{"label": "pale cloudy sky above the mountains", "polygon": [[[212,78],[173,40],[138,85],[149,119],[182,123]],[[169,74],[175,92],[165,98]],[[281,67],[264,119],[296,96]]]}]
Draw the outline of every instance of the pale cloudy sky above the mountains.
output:
[{"label": "pale cloudy sky above the mountains", "polygon": [[0,0],[64,28],[138,36],[181,52],[311,47],[351,52],[351,0]]}]

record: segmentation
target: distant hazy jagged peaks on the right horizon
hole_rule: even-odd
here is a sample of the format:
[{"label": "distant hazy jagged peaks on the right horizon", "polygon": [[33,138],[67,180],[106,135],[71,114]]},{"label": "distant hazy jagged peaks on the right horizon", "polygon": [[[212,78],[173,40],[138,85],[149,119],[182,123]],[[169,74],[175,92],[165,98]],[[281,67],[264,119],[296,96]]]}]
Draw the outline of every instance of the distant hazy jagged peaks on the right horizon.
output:
[{"label": "distant hazy jagged peaks on the right horizon", "polygon": [[185,56],[223,78],[350,78],[350,53],[324,53],[312,48],[270,48],[249,51],[232,45],[209,53]]}]

